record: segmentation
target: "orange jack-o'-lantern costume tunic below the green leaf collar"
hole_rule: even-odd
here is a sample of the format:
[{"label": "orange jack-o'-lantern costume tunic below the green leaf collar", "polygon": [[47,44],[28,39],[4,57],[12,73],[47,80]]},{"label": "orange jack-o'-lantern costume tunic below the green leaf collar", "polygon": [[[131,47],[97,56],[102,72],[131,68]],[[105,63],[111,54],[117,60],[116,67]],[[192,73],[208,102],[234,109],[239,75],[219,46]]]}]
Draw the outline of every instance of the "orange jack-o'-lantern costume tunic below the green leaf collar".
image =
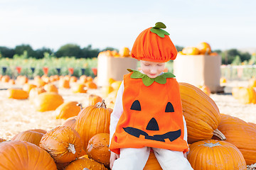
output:
[{"label": "orange jack-o'-lantern costume tunic below the green leaf collar", "polygon": [[145,86],[142,79],[132,79],[131,75],[124,76],[124,112],[112,137],[111,151],[119,154],[119,148],[156,147],[187,152],[176,79]]}]

